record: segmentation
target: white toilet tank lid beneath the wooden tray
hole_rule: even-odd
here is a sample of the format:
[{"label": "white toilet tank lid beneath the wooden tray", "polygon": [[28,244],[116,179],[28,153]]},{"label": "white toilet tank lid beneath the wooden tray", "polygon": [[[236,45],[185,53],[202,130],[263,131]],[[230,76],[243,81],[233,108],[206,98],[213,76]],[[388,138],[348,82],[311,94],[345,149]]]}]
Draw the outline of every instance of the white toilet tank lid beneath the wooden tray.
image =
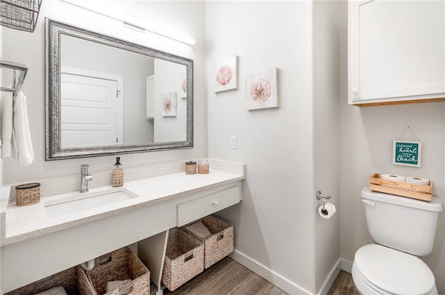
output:
[{"label": "white toilet tank lid beneath the wooden tray", "polygon": [[439,197],[433,196],[430,202],[410,199],[405,196],[396,196],[394,194],[385,194],[383,192],[373,192],[369,186],[362,189],[362,197],[365,199],[403,205],[406,207],[417,208],[421,210],[442,211],[442,201]]}]

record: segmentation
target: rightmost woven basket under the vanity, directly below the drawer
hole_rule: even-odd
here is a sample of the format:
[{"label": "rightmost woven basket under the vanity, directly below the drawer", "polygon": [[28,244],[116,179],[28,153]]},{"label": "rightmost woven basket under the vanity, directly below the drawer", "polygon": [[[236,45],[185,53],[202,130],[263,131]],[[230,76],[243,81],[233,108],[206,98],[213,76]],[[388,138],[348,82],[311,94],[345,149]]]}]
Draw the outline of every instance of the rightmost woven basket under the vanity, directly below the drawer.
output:
[{"label": "rightmost woven basket under the vanity, directly below the drawer", "polygon": [[[203,239],[186,228],[199,221],[209,229],[211,237]],[[234,251],[234,226],[223,219],[209,215],[186,224],[181,229],[204,243],[204,269],[208,269]]]}]

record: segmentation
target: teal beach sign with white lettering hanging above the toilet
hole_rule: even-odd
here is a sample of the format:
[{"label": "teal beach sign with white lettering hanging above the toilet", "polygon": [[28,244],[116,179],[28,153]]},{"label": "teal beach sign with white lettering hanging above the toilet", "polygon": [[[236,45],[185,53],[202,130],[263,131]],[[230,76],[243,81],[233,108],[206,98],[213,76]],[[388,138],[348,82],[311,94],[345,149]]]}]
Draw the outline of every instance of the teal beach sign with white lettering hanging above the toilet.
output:
[{"label": "teal beach sign with white lettering hanging above the toilet", "polygon": [[394,140],[392,163],[420,167],[421,142]]}]

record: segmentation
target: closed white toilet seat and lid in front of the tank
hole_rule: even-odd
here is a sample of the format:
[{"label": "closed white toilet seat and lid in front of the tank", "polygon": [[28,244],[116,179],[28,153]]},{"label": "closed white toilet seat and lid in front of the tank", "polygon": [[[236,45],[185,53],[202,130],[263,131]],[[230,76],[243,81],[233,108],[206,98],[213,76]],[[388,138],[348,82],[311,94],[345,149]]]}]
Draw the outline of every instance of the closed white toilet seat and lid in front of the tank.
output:
[{"label": "closed white toilet seat and lid in front of the tank", "polygon": [[369,287],[362,292],[364,294],[370,289],[375,294],[437,294],[435,278],[425,262],[378,244],[359,248],[355,253],[353,275],[354,281],[360,280],[356,283],[357,289]]}]

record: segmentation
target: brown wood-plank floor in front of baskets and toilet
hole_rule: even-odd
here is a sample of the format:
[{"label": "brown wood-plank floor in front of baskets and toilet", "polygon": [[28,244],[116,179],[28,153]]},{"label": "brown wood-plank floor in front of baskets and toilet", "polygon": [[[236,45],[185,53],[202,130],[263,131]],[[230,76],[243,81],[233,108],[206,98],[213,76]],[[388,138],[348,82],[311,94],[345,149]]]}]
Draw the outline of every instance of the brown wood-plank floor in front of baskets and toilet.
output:
[{"label": "brown wood-plank floor in front of baskets and toilet", "polygon": [[[168,295],[289,295],[231,258],[224,258]],[[297,294],[295,294],[297,295]],[[359,295],[350,273],[341,271],[328,295]]]}]

